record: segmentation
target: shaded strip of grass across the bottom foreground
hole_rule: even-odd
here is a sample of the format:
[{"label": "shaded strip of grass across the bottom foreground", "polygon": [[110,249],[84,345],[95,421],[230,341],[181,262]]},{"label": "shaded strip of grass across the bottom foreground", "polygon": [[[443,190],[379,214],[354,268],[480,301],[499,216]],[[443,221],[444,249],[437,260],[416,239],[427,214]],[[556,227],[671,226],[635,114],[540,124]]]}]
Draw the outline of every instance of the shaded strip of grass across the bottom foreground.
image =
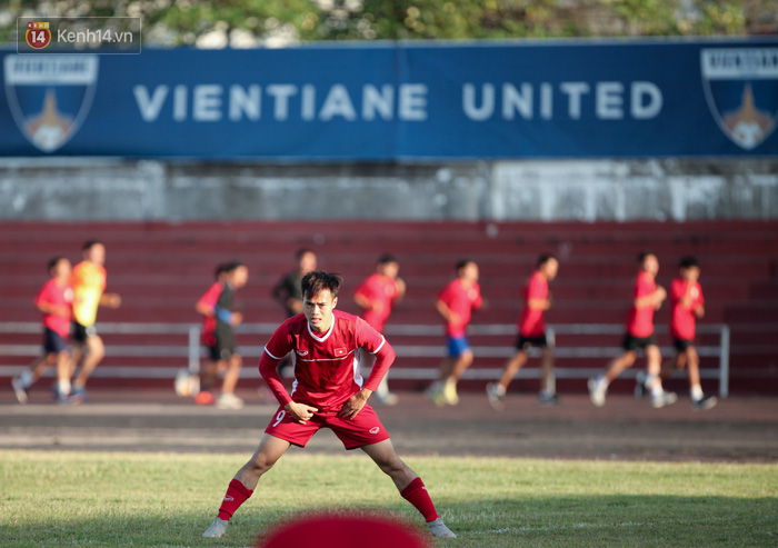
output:
[{"label": "shaded strip of grass across the bottom foreground", "polygon": [[[253,504],[251,504],[253,502]],[[275,508],[252,500],[232,519],[228,536],[201,538],[212,515],[118,516],[51,522],[0,521],[0,546],[253,546],[257,535],[303,511],[360,511],[353,507]],[[447,547],[512,546],[776,546],[778,498],[596,496],[531,497],[440,501],[438,509],[456,540]],[[402,501],[365,511],[392,515],[418,526],[416,511]],[[366,541],[369,547],[369,541]],[[347,548],[347,547],[343,547]]]}]

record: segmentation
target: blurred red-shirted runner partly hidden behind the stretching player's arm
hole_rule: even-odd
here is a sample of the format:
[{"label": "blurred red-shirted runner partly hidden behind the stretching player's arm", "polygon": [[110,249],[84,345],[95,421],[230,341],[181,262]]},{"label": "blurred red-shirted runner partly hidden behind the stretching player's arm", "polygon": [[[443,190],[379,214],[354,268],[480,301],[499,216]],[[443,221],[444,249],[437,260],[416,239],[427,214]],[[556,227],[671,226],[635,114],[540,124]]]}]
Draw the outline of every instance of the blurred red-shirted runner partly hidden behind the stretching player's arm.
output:
[{"label": "blurred red-shirted runner partly hidden behind the stretching player's arm", "polygon": [[[398,277],[400,263],[397,257],[382,255],[378,258],[376,272],[370,275],[361,286],[357,288],[353,300],[362,309],[362,319],[370,323],[379,333],[383,333],[383,326],[391,315],[391,310],[406,295],[406,282]],[[366,368],[372,367],[372,357],[363,352],[360,362]],[[376,391],[376,400],[379,403],[393,406],[397,396],[389,391],[389,375],[385,375]]]}]

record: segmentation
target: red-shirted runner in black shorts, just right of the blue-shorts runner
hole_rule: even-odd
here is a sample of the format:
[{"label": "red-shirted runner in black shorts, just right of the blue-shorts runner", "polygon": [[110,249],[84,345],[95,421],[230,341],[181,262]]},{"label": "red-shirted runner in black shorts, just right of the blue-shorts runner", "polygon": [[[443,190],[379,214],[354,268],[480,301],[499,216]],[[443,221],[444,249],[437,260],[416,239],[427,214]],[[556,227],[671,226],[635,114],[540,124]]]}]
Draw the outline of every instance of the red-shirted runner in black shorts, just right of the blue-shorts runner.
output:
[{"label": "red-shirted runner in black shorts, just right of the blue-shorts runner", "polygon": [[516,353],[508,360],[499,382],[487,385],[489,403],[497,410],[505,407],[505,395],[508,385],[527,362],[531,347],[540,348],[542,352],[542,378],[538,399],[542,406],[556,406],[557,395],[551,380],[553,373],[553,351],[546,340],[546,319],[543,312],[551,308],[551,296],[548,282],[557,277],[559,261],[552,255],[541,255],[537,269],[523,288],[525,306],[519,317],[519,336],[516,340]]}]

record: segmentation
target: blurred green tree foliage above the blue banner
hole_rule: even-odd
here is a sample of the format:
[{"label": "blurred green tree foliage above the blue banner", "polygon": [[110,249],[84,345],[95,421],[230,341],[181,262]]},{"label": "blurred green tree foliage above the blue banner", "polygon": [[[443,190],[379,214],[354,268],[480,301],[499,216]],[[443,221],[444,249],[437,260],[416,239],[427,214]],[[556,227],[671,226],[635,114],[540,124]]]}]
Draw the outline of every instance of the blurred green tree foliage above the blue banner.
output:
[{"label": "blurred green tree foliage above the blue banner", "polygon": [[11,0],[0,30],[36,14],[140,17],[144,42],[200,47],[778,33],[778,0]]}]

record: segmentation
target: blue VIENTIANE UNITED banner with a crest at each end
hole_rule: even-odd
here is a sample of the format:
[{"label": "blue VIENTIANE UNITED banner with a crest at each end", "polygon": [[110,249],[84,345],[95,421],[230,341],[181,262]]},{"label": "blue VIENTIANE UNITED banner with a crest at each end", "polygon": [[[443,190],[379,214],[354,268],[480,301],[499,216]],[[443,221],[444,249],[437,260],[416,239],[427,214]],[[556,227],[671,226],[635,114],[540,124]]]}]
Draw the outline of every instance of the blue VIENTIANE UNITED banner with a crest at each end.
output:
[{"label": "blue VIENTIANE UNITED banner with a crest at each end", "polygon": [[770,39],[0,56],[0,156],[778,155]]}]

